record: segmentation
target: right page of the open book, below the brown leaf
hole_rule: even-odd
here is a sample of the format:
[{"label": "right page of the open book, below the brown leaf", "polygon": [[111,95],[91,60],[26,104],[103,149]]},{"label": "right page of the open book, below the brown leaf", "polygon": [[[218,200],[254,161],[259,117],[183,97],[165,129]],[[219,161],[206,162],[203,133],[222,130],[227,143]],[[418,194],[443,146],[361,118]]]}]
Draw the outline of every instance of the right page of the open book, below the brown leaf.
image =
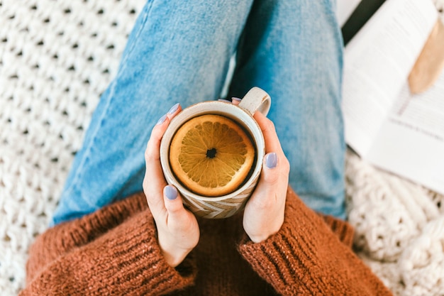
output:
[{"label": "right page of the open book, below the brown leaf", "polygon": [[404,85],[368,159],[444,194],[444,71],[421,94]]}]

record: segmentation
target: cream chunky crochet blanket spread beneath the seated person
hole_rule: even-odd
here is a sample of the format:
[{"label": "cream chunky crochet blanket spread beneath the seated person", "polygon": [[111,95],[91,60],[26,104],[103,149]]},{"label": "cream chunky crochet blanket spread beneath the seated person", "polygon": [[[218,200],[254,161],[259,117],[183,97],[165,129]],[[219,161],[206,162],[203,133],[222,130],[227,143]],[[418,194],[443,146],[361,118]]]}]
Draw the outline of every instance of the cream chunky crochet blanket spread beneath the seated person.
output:
[{"label": "cream chunky crochet blanket spread beneath the seated person", "polygon": [[[0,0],[0,292],[56,207],[143,0]],[[442,12],[444,0],[435,0]],[[362,260],[395,295],[444,295],[444,196],[348,151],[349,221]]]}]

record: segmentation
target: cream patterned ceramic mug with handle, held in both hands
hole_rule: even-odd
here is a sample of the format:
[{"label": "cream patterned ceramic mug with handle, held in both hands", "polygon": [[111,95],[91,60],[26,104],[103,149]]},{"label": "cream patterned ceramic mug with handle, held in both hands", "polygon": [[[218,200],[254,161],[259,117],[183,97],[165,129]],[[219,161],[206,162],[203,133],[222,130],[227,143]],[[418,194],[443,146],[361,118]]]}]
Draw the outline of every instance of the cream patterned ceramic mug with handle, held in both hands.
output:
[{"label": "cream patterned ceramic mug with handle, held in both hands", "polygon": [[[168,184],[174,185],[182,194],[185,206],[196,216],[217,219],[232,216],[245,207],[252,191],[257,185],[262,170],[262,160],[265,155],[265,141],[262,131],[253,119],[255,111],[267,115],[270,110],[271,99],[264,90],[253,87],[245,94],[238,105],[229,102],[209,101],[194,104],[183,109],[172,119],[160,143],[160,163]],[[174,176],[170,168],[170,143],[177,129],[190,119],[204,114],[218,114],[232,119],[250,134],[255,146],[255,162],[248,180],[243,182],[237,190],[221,197],[205,197],[196,194],[184,187]]]}]

